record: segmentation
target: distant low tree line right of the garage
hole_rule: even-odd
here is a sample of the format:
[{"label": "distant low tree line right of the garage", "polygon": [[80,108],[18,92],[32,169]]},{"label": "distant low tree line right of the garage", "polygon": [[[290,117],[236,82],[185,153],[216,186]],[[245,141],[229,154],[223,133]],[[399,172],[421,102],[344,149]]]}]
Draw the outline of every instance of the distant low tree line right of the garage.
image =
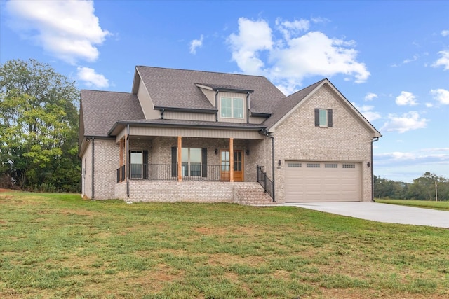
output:
[{"label": "distant low tree line right of the garage", "polygon": [[374,197],[398,200],[449,200],[449,179],[425,172],[412,183],[374,176]]}]

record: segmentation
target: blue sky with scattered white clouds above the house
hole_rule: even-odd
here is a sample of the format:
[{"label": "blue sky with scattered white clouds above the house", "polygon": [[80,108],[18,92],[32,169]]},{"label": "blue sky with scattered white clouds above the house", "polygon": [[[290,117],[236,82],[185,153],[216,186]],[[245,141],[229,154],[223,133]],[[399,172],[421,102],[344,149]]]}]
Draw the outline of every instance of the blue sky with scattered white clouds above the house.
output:
[{"label": "blue sky with scattered white clouds above the house", "polygon": [[0,62],[130,92],[136,65],[330,81],[383,137],[375,174],[449,178],[449,1],[1,1]]}]

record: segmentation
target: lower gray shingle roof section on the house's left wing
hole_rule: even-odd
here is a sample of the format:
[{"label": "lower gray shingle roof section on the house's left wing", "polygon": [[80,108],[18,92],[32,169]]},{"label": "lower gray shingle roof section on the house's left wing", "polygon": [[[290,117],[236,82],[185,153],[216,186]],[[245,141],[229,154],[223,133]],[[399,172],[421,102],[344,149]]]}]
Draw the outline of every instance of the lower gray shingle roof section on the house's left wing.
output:
[{"label": "lower gray shingle roof section on the house's left wing", "polygon": [[84,135],[107,137],[118,120],[145,119],[136,95],[128,92],[81,90]]}]

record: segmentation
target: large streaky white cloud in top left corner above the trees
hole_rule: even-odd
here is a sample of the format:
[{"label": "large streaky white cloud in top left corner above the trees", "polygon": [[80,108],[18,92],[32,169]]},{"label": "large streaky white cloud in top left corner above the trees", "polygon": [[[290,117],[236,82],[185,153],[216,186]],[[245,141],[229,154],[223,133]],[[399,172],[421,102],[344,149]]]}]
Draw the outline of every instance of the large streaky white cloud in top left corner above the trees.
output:
[{"label": "large streaky white cloud in top left corner above the trees", "polygon": [[93,1],[8,1],[10,25],[54,57],[75,64],[93,62],[109,35],[101,29]]}]

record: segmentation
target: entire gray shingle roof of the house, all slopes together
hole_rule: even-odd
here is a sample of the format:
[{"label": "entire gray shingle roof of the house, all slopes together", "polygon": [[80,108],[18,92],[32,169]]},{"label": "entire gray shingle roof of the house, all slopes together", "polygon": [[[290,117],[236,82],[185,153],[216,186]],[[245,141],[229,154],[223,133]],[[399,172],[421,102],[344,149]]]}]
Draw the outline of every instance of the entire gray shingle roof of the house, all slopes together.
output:
[{"label": "entire gray shingle roof of the house, all slopes together", "polygon": [[253,113],[269,113],[270,118],[260,125],[217,123],[193,120],[145,120],[137,95],[128,92],[81,90],[80,132],[84,136],[108,137],[117,123],[142,125],[192,125],[205,127],[239,127],[256,130],[271,127],[322,81],[314,83],[286,97],[267,78],[209,71],[136,67],[149,92],[154,106],[175,109],[215,109],[196,84],[211,88],[253,91],[250,105]]}]

